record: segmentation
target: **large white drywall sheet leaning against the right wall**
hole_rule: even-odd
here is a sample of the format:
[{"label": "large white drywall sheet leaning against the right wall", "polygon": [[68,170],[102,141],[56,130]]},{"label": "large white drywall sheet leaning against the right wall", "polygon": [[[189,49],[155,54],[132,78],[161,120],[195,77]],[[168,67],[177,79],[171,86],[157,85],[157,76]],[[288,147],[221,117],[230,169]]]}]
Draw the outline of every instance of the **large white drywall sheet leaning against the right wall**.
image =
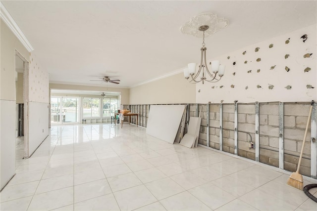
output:
[{"label": "large white drywall sheet leaning against the right wall", "polygon": [[151,105],[147,134],[174,143],[186,105]]}]

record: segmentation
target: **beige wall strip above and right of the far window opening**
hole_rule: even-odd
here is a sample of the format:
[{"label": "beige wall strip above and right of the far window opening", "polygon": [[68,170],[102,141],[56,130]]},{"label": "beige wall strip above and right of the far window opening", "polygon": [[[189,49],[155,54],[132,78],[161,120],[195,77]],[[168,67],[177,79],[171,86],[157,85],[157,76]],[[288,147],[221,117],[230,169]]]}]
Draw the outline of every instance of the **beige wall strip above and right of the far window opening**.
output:
[{"label": "beige wall strip above and right of the far window opening", "polygon": [[71,84],[50,84],[50,89],[69,89],[69,90],[89,90],[89,91],[113,91],[121,92],[121,104],[129,104],[129,89],[128,88],[113,88],[102,86],[87,86],[87,85],[71,85]]}]

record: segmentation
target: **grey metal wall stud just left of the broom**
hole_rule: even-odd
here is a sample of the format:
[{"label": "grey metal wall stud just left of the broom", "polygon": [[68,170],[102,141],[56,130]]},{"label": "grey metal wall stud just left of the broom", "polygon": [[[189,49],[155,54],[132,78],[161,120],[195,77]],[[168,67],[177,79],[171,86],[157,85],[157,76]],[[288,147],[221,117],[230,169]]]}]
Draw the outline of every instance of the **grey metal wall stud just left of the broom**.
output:
[{"label": "grey metal wall stud just left of the broom", "polygon": [[278,168],[284,169],[284,103],[279,102],[278,105]]}]

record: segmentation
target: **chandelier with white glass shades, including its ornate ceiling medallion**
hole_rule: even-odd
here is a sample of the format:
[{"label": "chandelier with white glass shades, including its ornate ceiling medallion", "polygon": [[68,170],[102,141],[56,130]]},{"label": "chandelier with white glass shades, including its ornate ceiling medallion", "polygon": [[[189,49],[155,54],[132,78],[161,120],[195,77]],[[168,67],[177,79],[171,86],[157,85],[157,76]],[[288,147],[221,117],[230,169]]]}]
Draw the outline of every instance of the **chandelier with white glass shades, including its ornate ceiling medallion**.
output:
[{"label": "chandelier with white glass shades, including its ornate ceiling medallion", "polygon": [[[184,34],[190,34],[195,37],[203,37],[203,43],[201,47],[201,62],[199,69],[197,70],[196,63],[189,63],[183,70],[185,79],[190,83],[196,84],[199,82],[218,82],[224,75],[225,66],[220,64],[220,61],[211,61],[211,71],[208,69],[205,36],[212,35],[217,31],[227,27],[229,21],[224,18],[218,18],[217,15],[212,13],[203,13],[196,17],[193,17],[190,22],[184,24],[181,27],[181,32]],[[203,32],[203,33],[201,33]],[[211,73],[212,72],[212,73]]]}]

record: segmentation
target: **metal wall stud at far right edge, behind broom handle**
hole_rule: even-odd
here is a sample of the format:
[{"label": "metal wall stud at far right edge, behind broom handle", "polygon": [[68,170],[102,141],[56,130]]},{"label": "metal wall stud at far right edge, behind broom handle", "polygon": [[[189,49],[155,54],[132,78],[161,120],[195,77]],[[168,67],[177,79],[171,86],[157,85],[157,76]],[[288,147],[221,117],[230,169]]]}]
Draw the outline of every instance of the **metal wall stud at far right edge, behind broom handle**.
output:
[{"label": "metal wall stud at far right edge, behind broom handle", "polygon": [[311,117],[311,176],[317,179],[317,103],[314,102]]}]

